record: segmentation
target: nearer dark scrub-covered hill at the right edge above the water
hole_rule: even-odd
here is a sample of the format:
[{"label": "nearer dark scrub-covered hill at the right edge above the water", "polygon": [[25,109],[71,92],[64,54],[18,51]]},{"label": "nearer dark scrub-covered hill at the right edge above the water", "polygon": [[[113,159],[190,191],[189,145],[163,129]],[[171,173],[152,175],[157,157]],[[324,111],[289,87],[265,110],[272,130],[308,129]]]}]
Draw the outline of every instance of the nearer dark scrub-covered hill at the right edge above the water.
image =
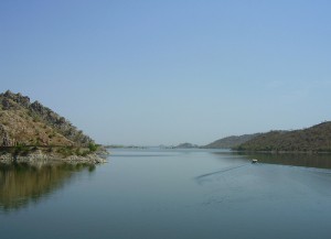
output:
[{"label": "nearer dark scrub-covered hill at the right edge above the water", "polygon": [[303,130],[263,133],[235,149],[241,151],[331,152],[331,121]]}]

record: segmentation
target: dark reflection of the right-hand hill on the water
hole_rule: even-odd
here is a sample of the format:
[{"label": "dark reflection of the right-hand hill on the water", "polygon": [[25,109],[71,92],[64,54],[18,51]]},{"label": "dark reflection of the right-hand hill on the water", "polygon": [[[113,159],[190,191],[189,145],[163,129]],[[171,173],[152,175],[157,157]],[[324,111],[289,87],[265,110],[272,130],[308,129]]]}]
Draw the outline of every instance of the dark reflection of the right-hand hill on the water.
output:
[{"label": "dark reflection of the right-hand hill on the water", "polygon": [[[256,159],[259,163],[281,164],[291,166],[306,166],[317,169],[331,169],[330,153],[247,153],[228,152],[232,155],[241,155],[247,159]],[[223,154],[223,153],[222,153]]]}]

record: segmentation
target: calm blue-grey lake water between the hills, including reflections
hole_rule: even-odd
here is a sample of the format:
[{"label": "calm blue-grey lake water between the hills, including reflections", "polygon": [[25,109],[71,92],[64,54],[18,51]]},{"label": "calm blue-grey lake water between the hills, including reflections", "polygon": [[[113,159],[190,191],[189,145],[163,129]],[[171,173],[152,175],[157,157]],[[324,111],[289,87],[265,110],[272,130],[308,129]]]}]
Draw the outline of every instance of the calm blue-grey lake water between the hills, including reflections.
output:
[{"label": "calm blue-grey lake water between the hills, including reflections", "polygon": [[111,152],[96,167],[1,165],[0,238],[330,238],[330,155]]}]

